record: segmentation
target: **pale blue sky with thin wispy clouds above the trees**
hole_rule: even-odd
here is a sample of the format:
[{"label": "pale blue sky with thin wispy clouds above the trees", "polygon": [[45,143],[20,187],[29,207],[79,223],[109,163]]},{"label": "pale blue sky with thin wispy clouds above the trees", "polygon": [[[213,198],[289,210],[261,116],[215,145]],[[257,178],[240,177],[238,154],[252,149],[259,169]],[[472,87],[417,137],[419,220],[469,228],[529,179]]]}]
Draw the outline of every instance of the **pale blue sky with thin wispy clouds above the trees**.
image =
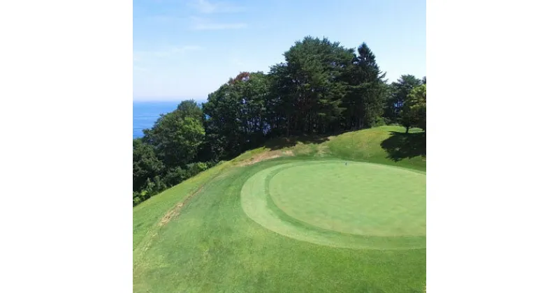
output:
[{"label": "pale blue sky with thin wispy clouds above the trees", "polygon": [[206,100],[305,36],[367,43],[389,82],[426,75],[424,0],[133,0],[133,100]]}]

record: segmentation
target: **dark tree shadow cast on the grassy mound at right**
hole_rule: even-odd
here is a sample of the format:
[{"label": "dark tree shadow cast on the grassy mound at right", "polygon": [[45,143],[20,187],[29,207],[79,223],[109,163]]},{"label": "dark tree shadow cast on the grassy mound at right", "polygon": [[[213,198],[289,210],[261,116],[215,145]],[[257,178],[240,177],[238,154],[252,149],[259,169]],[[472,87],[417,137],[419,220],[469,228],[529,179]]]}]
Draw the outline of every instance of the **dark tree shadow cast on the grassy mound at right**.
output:
[{"label": "dark tree shadow cast on the grassy mound at right", "polygon": [[398,133],[391,131],[391,136],[381,142],[381,147],[389,158],[398,162],[405,158],[426,156],[426,133]]}]

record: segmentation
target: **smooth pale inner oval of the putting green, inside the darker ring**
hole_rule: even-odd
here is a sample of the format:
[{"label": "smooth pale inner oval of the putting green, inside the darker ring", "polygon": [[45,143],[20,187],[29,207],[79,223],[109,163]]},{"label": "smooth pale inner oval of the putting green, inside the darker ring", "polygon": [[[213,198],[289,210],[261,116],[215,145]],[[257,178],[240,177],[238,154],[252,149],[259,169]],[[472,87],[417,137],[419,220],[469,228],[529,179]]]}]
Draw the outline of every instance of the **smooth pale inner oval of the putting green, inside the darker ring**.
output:
[{"label": "smooth pale inner oval of the putting green, inside the darker ring", "polygon": [[269,181],[287,215],[325,230],[368,236],[426,232],[426,176],[369,163],[287,167]]}]

